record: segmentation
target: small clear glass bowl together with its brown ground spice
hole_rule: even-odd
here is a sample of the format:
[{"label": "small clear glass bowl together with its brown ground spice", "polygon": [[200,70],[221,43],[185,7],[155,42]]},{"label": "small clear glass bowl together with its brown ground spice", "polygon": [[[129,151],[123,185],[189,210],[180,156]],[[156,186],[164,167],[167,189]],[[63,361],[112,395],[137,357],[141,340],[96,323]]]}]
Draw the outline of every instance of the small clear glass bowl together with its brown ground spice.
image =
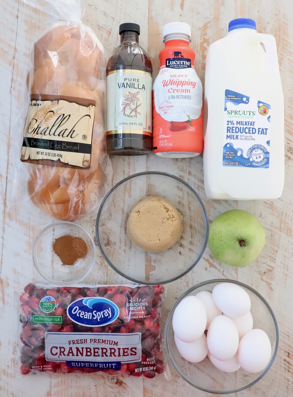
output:
[{"label": "small clear glass bowl together with its brown ground spice", "polygon": [[89,233],[72,222],[56,222],[39,233],[33,245],[33,263],[52,284],[72,285],[91,272],[96,248]]}]

